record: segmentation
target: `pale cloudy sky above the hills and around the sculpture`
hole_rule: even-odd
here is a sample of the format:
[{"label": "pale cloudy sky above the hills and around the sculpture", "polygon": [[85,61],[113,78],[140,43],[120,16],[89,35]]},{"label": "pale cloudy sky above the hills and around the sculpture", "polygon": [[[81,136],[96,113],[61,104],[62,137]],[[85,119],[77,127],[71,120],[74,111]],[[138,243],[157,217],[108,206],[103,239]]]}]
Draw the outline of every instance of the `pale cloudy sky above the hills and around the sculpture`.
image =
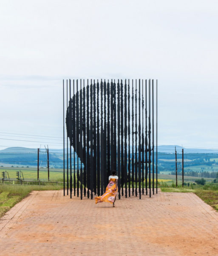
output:
[{"label": "pale cloudy sky above the hills and around the sculpture", "polygon": [[1,0],[0,149],[61,148],[62,79],[158,79],[158,144],[218,148],[217,0]]}]

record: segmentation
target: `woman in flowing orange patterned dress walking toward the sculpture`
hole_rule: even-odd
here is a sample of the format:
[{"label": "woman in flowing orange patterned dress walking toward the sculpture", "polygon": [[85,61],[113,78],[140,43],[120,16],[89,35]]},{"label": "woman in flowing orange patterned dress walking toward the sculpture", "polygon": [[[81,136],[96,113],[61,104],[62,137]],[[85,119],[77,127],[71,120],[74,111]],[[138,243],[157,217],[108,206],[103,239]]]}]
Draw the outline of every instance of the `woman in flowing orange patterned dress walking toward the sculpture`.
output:
[{"label": "woman in flowing orange patterned dress walking toward the sculpture", "polygon": [[106,187],[106,192],[102,196],[97,196],[95,198],[95,203],[101,203],[101,202],[108,202],[110,204],[113,204],[113,207],[115,207],[115,201],[116,201],[116,193],[118,191],[118,177],[116,176],[116,171],[113,170],[112,175],[109,176],[109,183]]}]

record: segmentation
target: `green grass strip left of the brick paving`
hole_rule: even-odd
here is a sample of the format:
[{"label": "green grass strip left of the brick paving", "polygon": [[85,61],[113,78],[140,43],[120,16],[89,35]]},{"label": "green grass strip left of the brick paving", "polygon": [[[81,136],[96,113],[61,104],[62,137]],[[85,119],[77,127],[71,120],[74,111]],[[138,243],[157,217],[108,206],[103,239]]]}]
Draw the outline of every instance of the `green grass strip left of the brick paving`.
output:
[{"label": "green grass strip left of the brick paving", "polygon": [[33,190],[59,190],[62,186],[15,186],[0,184],[0,217],[2,217],[11,207],[20,202]]}]

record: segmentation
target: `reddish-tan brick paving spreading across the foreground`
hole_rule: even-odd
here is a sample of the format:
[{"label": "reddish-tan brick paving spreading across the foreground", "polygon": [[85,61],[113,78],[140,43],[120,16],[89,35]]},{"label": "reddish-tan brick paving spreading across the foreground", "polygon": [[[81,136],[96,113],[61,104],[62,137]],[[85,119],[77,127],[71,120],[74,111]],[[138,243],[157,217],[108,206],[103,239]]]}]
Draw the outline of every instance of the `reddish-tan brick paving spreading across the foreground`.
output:
[{"label": "reddish-tan brick paving spreading across the foreground", "polygon": [[218,256],[218,212],[193,193],[108,203],[34,191],[0,219],[1,256]]}]

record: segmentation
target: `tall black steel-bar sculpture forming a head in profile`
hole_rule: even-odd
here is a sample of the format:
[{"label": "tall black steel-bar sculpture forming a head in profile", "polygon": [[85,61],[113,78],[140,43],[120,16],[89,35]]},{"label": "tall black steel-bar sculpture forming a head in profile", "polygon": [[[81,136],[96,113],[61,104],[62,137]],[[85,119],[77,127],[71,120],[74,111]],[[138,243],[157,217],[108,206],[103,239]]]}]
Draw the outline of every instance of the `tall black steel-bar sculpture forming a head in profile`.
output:
[{"label": "tall black steel-bar sculpture forming a head in profile", "polygon": [[[155,182],[154,134],[156,132],[157,140],[157,82],[156,131],[154,130],[153,80],[149,79],[147,83],[147,80],[141,79],[132,82],[129,79],[117,82],[101,79],[87,80],[86,84],[85,80],[73,80],[73,95],[71,95],[71,80],[66,84],[68,107],[66,113],[63,109],[63,113],[66,114],[67,129],[67,194],[69,188],[71,197],[73,189],[74,196],[80,195],[81,199],[83,195],[91,199],[93,194],[102,195],[108,184],[108,176],[112,170],[116,170],[119,177],[119,199],[121,195],[127,198],[127,195],[130,197],[131,194],[139,195],[141,199],[144,189],[146,195],[149,189],[151,197],[151,182],[153,194]],[[64,151],[64,166],[65,159]],[[72,171],[74,171],[73,175]],[[156,193],[157,174],[156,141]],[[65,180],[65,170],[63,175]]]}]

